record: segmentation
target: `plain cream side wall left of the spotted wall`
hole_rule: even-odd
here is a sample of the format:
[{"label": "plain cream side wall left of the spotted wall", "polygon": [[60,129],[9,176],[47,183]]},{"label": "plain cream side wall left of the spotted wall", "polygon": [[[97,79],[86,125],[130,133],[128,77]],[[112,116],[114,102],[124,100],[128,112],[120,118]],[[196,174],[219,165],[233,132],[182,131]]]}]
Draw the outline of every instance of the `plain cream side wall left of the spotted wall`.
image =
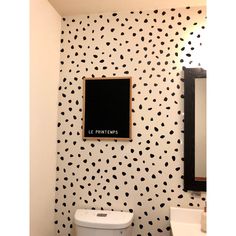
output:
[{"label": "plain cream side wall left of the spotted wall", "polygon": [[57,87],[61,17],[30,1],[30,235],[54,235]]}]

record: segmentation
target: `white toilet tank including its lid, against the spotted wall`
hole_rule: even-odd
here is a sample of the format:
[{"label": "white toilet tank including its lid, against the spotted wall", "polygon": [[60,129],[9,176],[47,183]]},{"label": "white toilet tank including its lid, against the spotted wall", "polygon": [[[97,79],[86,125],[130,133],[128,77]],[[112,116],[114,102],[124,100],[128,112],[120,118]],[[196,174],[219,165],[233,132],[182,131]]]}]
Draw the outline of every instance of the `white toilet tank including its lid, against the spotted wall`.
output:
[{"label": "white toilet tank including its lid, against the spotted wall", "polygon": [[133,217],[129,212],[78,209],[76,236],[131,236]]}]

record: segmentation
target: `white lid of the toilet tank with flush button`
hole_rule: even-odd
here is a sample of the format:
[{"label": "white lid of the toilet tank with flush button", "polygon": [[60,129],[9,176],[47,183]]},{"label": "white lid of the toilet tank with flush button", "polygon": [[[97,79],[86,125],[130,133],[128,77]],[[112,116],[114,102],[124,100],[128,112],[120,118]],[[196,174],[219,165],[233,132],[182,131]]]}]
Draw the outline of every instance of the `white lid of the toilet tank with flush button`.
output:
[{"label": "white lid of the toilet tank with flush button", "polygon": [[134,214],[121,211],[77,209],[75,224],[96,229],[124,229],[131,225]]}]

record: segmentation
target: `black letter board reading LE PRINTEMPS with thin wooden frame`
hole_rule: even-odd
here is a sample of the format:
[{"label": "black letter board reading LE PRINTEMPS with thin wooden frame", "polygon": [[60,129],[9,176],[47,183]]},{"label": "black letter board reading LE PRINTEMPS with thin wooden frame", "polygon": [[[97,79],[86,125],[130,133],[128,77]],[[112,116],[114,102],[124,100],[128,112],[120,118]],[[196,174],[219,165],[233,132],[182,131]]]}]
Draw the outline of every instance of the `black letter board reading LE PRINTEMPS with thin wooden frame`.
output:
[{"label": "black letter board reading LE PRINTEMPS with thin wooden frame", "polygon": [[84,78],[83,139],[131,140],[131,77]]}]

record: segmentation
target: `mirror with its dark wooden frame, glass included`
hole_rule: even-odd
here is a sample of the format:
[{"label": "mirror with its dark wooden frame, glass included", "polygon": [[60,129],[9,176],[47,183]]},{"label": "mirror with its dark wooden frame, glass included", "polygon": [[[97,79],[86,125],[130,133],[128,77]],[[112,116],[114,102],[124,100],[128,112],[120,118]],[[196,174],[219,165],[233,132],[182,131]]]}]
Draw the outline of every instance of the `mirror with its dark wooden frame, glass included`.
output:
[{"label": "mirror with its dark wooden frame, glass included", "polygon": [[206,191],[206,70],[184,69],[184,189]]}]

